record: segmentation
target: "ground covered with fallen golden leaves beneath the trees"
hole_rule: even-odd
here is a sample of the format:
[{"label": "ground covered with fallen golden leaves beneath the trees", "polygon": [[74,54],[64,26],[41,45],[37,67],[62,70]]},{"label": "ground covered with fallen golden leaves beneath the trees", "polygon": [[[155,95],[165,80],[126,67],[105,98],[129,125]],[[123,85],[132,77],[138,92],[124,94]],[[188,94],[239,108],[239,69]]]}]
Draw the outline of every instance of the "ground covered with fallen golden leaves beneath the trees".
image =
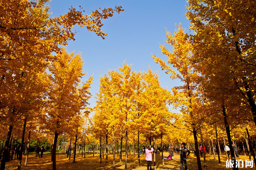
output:
[{"label": "ground covered with fallen golden leaves beneath the trees", "polygon": [[[167,158],[168,153],[164,153],[164,157]],[[105,155],[104,155],[104,158]],[[116,168],[115,170],[123,170],[125,168],[125,156],[123,155],[123,161],[120,162],[120,159],[116,155]],[[227,170],[232,168],[226,168],[226,154],[222,154],[221,156],[221,164],[218,163],[218,157],[216,156],[217,160],[214,160],[213,156],[209,154],[206,155],[206,167],[204,167],[204,159],[201,158],[202,168],[203,170]],[[230,159],[230,156],[229,156]],[[249,156],[240,155],[239,160],[249,160]],[[128,170],[146,170],[147,169],[147,162],[145,160],[145,155],[140,155],[140,167],[138,167],[138,158],[137,154],[135,154],[135,158],[133,158],[133,154],[128,155]],[[34,153],[30,153],[28,158],[28,163],[25,166],[25,157],[22,158],[22,170],[52,170],[52,161],[51,161],[51,154],[44,153],[43,158],[35,157]],[[102,163],[100,163],[99,154],[95,154],[93,156],[92,153],[86,153],[85,158],[84,156],[81,157],[81,153],[76,156],[76,162],[73,163],[73,158],[70,160],[66,158],[66,154],[64,153],[57,153],[56,155],[56,163],[57,163],[57,170],[114,170],[113,168],[113,155],[108,155],[108,165],[105,165],[105,159],[102,159]],[[6,170],[15,170],[17,169],[17,160],[12,160],[6,163]],[[153,164],[153,163],[152,163]],[[187,160],[187,169],[188,170],[197,170],[197,159],[192,154],[190,154]],[[157,170],[179,170],[180,169],[180,155],[178,153],[174,154],[173,160],[165,159],[165,166],[162,165],[162,157],[160,154],[156,155],[156,168]],[[184,167],[185,168],[185,167]],[[255,168],[255,166],[254,166]],[[248,170],[254,168],[239,168],[239,170]],[[152,165],[153,169],[153,165]]]}]

